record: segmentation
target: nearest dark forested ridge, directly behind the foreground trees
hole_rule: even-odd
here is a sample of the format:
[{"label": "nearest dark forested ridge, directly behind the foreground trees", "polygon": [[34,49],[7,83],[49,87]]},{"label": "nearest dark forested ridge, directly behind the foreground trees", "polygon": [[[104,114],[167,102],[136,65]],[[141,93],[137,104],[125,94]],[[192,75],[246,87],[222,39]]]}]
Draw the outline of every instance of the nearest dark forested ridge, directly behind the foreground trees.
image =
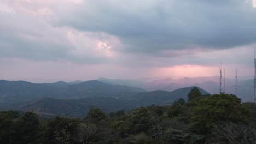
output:
[{"label": "nearest dark forested ridge, directly behind the foreground trees", "polygon": [[[122,97],[119,99],[110,97],[90,97],[83,99],[54,99],[45,98],[37,100],[27,105],[15,107],[15,110],[31,111],[38,113],[65,116],[65,117],[84,117],[91,106],[99,107],[106,113],[117,110],[135,109],[147,105],[171,105],[177,99],[185,99],[194,87],[177,89],[177,91],[153,91],[142,92],[133,97]],[[198,88],[200,89],[200,88]],[[186,93],[188,91],[188,93]],[[200,89],[202,94],[209,94],[203,89]]]}]

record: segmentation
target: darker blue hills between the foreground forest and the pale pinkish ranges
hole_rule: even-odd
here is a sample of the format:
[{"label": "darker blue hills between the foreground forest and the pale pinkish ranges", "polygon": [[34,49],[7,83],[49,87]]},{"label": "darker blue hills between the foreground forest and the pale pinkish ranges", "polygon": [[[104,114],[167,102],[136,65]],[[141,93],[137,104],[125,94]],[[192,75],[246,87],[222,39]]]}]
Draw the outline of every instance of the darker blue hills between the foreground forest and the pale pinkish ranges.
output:
[{"label": "darker blue hills between the foreground forest and the pale pinkish ranges", "polygon": [[[174,100],[187,100],[188,92],[194,87],[176,91],[148,91],[143,88],[124,86],[129,81],[104,83],[98,80],[69,84],[31,83],[26,81],[0,80],[0,110],[34,110],[45,116],[84,117],[91,106],[100,107],[106,112],[135,109],[147,105],[167,105]],[[199,88],[202,94],[210,94]]]}]

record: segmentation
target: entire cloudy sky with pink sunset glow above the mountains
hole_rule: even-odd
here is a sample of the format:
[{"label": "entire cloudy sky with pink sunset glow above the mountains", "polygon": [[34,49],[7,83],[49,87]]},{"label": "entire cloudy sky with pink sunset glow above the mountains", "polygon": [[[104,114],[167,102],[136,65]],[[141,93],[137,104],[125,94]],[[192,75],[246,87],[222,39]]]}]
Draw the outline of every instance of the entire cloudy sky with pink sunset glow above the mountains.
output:
[{"label": "entire cloudy sky with pink sunset glow above the mountains", "polygon": [[253,78],[256,1],[1,0],[0,79]]}]

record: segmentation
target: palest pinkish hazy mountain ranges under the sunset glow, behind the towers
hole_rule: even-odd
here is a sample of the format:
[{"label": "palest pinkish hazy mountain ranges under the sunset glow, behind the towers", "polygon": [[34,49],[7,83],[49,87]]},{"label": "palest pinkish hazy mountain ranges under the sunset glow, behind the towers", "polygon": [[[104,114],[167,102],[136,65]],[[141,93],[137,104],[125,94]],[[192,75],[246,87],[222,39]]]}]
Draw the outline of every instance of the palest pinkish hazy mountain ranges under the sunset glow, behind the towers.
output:
[{"label": "palest pinkish hazy mountain ranges under the sunset glow, behind the towers", "polygon": [[[149,79],[149,80],[125,80],[125,79],[106,79],[100,78],[99,81],[112,84],[120,84],[133,87],[141,87],[147,91],[174,91],[178,88],[196,86],[205,89],[209,93],[219,93],[219,76],[209,77],[184,77],[181,79]],[[235,79],[225,79],[225,93],[235,94]],[[222,83],[222,92],[224,91],[224,83]],[[243,102],[253,101],[253,79],[238,80],[237,96]]]}]

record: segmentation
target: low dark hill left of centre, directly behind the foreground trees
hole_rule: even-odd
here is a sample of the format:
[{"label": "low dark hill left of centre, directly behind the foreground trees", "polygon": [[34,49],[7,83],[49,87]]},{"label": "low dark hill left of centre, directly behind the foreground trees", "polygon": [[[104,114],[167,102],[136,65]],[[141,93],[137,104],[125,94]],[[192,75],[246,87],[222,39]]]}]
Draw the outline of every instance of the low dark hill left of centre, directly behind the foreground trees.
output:
[{"label": "low dark hill left of centre, directly behind the foreground trees", "polygon": [[84,98],[84,99],[54,99],[45,98],[35,103],[18,107],[16,110],[43,113],[46,115],[57,115],[65,117],[84,118],[90,107],[99,107],[101,110],[110,113],[118,110],[131,110],[136,108],[133,101],[119,100],[114,98]]}]

